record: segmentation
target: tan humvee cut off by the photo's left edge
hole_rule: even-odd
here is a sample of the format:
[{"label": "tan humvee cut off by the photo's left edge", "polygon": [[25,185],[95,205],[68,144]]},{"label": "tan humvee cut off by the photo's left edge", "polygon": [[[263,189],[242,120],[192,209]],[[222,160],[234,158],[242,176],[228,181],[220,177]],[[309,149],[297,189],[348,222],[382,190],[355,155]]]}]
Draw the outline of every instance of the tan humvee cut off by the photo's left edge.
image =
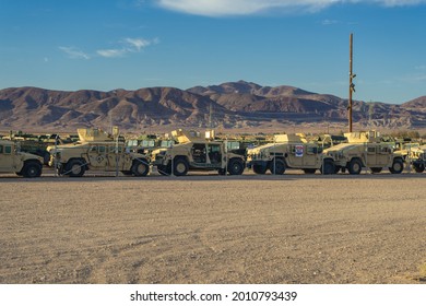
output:
[{"label": "tan humvee cut off by the photo's left edge", "polygon": [[39,177],[43,157],[21,152],[14,141],[0,140],[0,173],[16,173],[24,177]]}]

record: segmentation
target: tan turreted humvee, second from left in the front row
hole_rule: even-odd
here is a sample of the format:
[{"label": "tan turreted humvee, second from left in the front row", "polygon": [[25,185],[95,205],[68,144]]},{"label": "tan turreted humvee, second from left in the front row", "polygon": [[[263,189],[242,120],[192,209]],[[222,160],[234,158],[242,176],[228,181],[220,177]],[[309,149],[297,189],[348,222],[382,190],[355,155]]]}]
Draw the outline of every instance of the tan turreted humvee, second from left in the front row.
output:
[{"label": "tan turreted humvee, second from left in the front row", "polygon": [[123,141],[114,140],[102,130],[78,131],[80,141],[48,148],[49,166],[56,167],[58,174],[80,177],[86,170],[120,170],[125,175],[147,175],[150,158],[146,155],[130,152]]}]

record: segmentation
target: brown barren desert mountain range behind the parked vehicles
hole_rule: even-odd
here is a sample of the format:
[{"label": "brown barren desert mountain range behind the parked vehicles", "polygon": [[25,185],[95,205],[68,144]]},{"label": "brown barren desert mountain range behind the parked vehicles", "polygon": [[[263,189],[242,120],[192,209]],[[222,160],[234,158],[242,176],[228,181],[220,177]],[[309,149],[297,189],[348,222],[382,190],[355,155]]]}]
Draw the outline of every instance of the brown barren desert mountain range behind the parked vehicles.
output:
[{"label": "brown barren desert mountain range behind the parked vehicles", "polygon": [[[73,131],[81,127],[127,131],[176,128],[261,131],[347,122],[347,99],[292,86],[261,86],[239,81],[188,90],[50,91],[11,87],[0,91],[1,130]],[[354,102],[356,125],[386,129],[425,129],[426,96],[393,105]]]}]

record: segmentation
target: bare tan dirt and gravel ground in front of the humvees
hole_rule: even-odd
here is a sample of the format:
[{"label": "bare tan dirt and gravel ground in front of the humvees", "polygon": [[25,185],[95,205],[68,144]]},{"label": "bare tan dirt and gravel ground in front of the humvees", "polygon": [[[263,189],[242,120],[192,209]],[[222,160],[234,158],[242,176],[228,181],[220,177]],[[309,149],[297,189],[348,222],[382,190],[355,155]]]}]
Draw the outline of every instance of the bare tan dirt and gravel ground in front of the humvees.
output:
[{"label": "bare tan dirt and gravel ground in front of the humvees", "polygon": [[426,283],[426,175],[0,177],[0,283]]}]

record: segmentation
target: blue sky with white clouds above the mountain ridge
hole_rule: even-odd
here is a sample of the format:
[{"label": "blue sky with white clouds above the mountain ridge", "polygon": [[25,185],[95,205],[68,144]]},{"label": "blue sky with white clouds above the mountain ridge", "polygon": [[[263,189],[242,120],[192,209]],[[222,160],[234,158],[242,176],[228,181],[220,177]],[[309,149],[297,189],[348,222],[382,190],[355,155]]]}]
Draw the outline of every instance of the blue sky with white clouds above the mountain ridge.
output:
[{"label": "blue sky with white clouds above the mountain ridge", "polygon": [[0,89],[245,80],[355,99],[426,95],[426,0],[0,0]]}]

